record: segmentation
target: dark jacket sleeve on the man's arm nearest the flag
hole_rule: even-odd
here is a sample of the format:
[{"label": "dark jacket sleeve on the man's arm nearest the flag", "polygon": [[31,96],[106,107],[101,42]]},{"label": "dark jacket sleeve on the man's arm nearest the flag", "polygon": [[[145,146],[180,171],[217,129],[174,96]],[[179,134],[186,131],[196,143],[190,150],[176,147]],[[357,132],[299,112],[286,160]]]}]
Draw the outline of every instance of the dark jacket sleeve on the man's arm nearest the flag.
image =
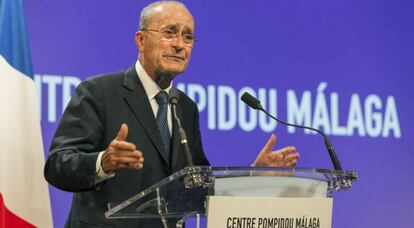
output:
[{"label": "dark jacket sleeve on the man's arm nearest the flag", "polygon": [[99,88],[82,82],[71,98],[53,138],[44,167],[46,180],[65,191],[95,189],[96,160],[103,138],[104,105]]}]

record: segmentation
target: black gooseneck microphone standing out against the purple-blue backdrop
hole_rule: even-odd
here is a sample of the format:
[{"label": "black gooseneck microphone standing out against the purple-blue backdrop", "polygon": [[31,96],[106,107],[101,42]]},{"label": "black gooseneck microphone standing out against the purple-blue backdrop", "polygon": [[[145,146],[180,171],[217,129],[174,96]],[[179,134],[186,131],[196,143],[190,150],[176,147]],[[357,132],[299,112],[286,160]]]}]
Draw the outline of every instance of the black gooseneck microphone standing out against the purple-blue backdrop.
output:
[{"label": "black gooseneck microphone standing out against the purple-blue backdrop", "polygon": [[320,135],[323,136],[323,141],[325,143],[326,149],[328,150],[329,157],[331,158],[333,166],[335,167],[336,170],[342,171],[341,163],[339,162],[338,157],[336,156],[335,149],[333,148],[332,143],[329,140],[328,136],[326,136],[322,131],[320,131],[316,128],[291,124],[291,123],[287,123],[285,121],[279,120],[278,118],[276,118],[276,117],[272,116],[270,113],[268,113],[263,108],[263,106],[260,104],[260,101],[258,99],[256,99],[255,97],[253,97],[252,95],[250,95],[249,93],[247,93],[247,92],[243,93],[243,95],[241,97],[241,100],[244,103],[246,103],[248,106],[250,106],[251,108],[264,112],[267,116],[269,116],[270,118],[276,120],[277,122],[279,122],[283,125],[292,126],[292,127],[296,127],[296,128],[309,129],[311,131],[318,132]]}]

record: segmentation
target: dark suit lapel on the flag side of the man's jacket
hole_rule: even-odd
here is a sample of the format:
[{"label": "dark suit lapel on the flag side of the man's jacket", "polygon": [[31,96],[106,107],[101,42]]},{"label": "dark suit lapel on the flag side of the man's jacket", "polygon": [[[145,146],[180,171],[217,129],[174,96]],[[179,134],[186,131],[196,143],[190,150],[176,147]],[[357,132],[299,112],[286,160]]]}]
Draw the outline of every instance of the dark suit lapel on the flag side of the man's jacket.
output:
[{"label": "dark suit lapel on the flag side of the man's jacket", "polygon": [[159,133],[151,104],[149,103],[144,86],[138,78],[135,65],[125,72],[123,86],[125,87],[124,99],[131,108],[135,117],[141,123],[158,153],[169,166],[170,162],[163,152],[163,143]]}]

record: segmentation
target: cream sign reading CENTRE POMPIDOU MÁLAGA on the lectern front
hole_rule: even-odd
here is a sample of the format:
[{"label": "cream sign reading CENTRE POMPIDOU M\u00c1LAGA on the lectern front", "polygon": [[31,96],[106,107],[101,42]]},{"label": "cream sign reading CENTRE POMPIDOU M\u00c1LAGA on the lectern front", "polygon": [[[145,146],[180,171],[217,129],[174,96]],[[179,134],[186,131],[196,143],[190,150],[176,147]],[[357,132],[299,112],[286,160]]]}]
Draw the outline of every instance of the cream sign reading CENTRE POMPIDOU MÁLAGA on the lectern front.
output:
[{"label": "cream sign reading CENTRE POMPIDOU M\u00c1LAGA on the lectern front", "polygon": [[207,228],[330,228],[332,198],[210,196]]}]

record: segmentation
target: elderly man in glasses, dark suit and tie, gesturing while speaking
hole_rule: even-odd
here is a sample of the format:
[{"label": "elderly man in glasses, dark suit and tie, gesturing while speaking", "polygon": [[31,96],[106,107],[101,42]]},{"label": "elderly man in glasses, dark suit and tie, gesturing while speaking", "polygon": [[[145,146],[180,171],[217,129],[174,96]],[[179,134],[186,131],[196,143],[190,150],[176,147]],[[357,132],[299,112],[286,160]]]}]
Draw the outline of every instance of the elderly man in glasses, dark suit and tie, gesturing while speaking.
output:
[{"label": "elderly man in glasses, dark suit and tie, gesturing while speaking", "polygon": [[[128,70],[101,75],[76,89],[53,139],[45,177],[75,192],[66,227],[163,227],[160,220],[108,220],[108,202],[122,202],[186,166],[176,122],[168,108],[174,77],[188,66],[194,19],[174,1],[141,12],[135,35],[138,61]],[[179,116],[195,165],[209,165],[196,104],[180,92]],[[272,135],[257,166],[294,166],[294,147],[272,151]]]}]

